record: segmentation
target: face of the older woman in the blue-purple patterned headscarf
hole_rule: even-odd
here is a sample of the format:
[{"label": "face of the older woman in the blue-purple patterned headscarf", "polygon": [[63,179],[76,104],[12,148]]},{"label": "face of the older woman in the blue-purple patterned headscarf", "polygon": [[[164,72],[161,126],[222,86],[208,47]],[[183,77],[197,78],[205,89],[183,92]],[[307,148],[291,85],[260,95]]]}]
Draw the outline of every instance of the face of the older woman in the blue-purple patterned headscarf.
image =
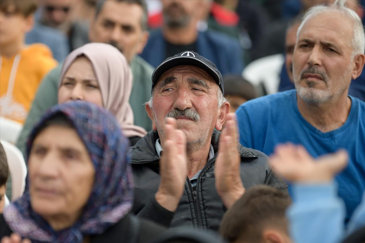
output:
[{"label": "face of the older woman in the blue-purple patterned headscarf", "polygon": [[95,169],[73,128],[51,125],[32,144],[28,173],[31,205],[44,217],[78,217],[92,191]]}]

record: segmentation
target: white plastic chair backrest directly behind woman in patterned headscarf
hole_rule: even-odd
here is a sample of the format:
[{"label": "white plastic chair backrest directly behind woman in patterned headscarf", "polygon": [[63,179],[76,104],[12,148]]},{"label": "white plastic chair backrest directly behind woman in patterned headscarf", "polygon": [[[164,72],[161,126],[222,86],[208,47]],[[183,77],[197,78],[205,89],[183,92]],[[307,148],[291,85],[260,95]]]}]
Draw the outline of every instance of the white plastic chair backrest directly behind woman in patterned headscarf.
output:
[{"label": "white plastic chair backrest directly behind woman in patterned headscarf", "polygon": [[0,142],[3,144],[8,161],[11,175],[11,201],[14,201],[22,196],[24,192],[27,166],[22,152],[15,145],[2,139]]}]

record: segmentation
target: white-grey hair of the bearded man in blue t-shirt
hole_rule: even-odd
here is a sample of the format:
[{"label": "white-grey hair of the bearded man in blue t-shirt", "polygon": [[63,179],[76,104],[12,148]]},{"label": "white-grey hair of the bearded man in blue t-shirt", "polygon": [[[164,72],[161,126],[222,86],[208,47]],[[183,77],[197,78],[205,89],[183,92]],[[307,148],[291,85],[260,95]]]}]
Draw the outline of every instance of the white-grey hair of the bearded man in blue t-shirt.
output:
[{"label": "white-grey hair of the bearded man in blue t-shirt", "polygon": [[[347,0],[349,1],[349,0]],[[364,54],[365,50],[365,34],[364,34],[364,26],[362,26],[362,22],[357,13],[346,7],[346,1],[336,0],[333,4],[330,5],[316,5],[310,8],[303,17],[303,22],[301,22],[298,32],[297,39],[299,37],[299,33],[302,30],[304,24],[314,16],[324,13],[337,11],[347,16],[353,21],[353,36],[351,39],[351,47],[352,47],[352,57],[353,59],[358,54]]]}]

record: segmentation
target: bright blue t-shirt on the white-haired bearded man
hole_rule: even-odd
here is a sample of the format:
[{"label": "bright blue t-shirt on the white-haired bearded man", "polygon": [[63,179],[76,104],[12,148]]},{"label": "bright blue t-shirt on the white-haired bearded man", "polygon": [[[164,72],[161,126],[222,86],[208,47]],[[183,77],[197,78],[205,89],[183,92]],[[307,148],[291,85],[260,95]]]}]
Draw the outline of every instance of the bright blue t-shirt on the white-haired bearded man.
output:
[{"label": "bright blue t-shirt on the white-haired bearded man", "polygon": [[349,97],[351,110],[345,124],[325,133],[300,114],[295,89],[247,101],[236,112],[241,144],[268,155],[285,142],[302,144],[313,157],[345,148],[349,163],[335,179],[346,204],[346,222],[365,190],[365,102]]}]

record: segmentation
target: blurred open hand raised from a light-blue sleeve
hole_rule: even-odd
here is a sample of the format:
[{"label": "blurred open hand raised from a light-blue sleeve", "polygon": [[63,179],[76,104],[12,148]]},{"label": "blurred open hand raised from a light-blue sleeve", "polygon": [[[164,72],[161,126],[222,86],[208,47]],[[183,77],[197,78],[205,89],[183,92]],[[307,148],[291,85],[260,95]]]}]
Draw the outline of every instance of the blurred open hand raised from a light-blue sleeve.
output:
[{"label": "blurred open hand raised from a light-blue sleeve", "polygon": [[299,183],[330,182],[347,165],[348,154],[344,150],[314,159],[303,146],[280,144],[270,156],[270,164],[278,175]]}]

